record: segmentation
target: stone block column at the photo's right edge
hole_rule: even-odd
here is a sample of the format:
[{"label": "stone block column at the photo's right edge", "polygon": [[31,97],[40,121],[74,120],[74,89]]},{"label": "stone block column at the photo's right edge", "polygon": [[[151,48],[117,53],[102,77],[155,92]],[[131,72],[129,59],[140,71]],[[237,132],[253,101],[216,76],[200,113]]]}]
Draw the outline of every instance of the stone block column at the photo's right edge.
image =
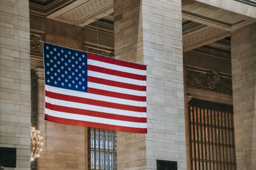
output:
[{"label": "stone block column at the photo's right edge", "polygon": [[256,23],[231,33],[237,170],[256,169]]}]

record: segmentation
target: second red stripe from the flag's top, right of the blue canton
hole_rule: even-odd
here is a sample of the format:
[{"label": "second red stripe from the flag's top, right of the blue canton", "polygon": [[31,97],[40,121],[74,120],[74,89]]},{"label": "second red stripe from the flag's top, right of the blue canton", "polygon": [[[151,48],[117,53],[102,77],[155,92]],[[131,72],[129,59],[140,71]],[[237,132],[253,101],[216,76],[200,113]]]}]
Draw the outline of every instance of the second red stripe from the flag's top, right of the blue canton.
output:
[{"label": "second red stripe from the flag's top, right of the blue canton", "polygon": [[132,74],[132,73],[127,73],[123,71],[117,71],[117,70],[111,70],[108,68],[103,68],[95,65],[87,65],[87,69],[90,71],[96,71],[99,73],[104,73],[104,74],[110,74],[113,76],[119,76],[119,77],[125,77],[129,79],[137,79],[137,80],[146,80],[147,77],[139,74]]}]

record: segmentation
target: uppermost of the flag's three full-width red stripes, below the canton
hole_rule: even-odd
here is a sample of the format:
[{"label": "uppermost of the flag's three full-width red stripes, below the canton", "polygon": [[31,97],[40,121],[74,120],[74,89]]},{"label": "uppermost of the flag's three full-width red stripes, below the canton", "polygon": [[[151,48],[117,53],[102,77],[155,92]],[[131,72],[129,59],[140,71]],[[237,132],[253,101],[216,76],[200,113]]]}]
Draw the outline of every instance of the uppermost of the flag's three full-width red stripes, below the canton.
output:
[{"label": "uppermost of the flag's three full-width red stripes, below the canton", "polygon": [[59,99],[59,100],[65,100],[65,101],[69,101],[69,102],[83,103],[83,104],[87,104],[87,105],[96,105],[96,106],[102,106],[102,107],[106,107],[106,108],[114,108],[114,109],[120,109],[120,110],[126,110],[126,111],[146,112],[146,107],[123,105],[123,104],[105,102],[105,101],[100,101],[100,100],[95,100],[95,99],[87,99],[87,98],[83,98],[83,97],[58,94],[58,93],[54,93],[54,92],[50,92],[50,91],[45,91],[45,96],[50,97],[52,99]]}]

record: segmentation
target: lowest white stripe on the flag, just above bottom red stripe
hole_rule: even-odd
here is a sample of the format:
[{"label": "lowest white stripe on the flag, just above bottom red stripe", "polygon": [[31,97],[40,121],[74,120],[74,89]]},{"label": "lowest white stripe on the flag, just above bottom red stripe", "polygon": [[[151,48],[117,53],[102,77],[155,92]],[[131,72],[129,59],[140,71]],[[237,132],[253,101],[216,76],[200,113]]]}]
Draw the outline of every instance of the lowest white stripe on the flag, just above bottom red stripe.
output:
[{"label": "lowest white stripe on the flag, just above bottom red stripe", "polygon": [[45,108],[45,113],[48,114],[49,116],[55,116],[55,117],[60,117],[64,119],[81,120],[81,121],[87,121],[87,122],[103,123],[108,125],[125,126],[125,127],[147,128],[146,123],[127,122],[122,120],[105,119],[105,118],[94,117],[94,116],[65,113],[65,112],[59,112],[59,111],[52,111],[47,108]]}]

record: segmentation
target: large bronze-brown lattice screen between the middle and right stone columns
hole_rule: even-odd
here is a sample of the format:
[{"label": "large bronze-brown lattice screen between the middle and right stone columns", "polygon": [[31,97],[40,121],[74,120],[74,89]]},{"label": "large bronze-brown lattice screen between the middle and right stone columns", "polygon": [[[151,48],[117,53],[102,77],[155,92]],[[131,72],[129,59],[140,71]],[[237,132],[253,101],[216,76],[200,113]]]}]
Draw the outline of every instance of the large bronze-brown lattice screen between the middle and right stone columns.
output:
[{"label": "large bronze-brown lattice screen between the middle and right stone columns", "polygon": [[236,170],[233,106],[189,101],[191,170]]}]

